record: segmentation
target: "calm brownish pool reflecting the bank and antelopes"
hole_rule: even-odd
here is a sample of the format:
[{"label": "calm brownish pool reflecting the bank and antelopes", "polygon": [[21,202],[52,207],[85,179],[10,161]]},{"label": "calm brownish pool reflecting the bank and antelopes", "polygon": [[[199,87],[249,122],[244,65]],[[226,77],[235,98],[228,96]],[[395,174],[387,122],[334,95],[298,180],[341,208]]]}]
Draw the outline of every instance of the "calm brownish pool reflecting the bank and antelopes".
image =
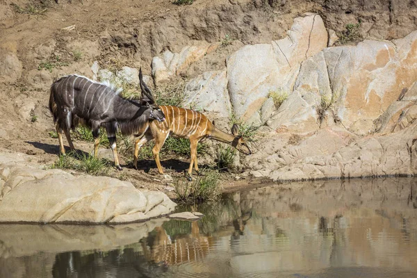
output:
[{"label": "calm brownish pool reflecting the bank and antelopes", "polygon": [[417,179],[267,186],[199,222],[0,225],[0,277],[417,277]]}]

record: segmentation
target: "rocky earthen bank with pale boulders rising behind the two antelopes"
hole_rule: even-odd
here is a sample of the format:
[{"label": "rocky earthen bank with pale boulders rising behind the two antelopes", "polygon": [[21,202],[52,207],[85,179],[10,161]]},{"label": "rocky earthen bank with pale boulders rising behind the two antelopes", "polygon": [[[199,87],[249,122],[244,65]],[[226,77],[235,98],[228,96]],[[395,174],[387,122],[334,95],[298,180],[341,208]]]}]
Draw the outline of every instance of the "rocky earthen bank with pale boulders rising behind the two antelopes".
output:
[{"label": "rocky earthen bank with pale boulders rising behind the two antelopes", "polygon": [[247,174],[416,172],[416,1],[103,5],[60,1],[47,19],[27,19],[13,6],[0,14],[2,145],[36,149],[27,142],[47,140],[53,127],[44,104],[57,76],[117,76],[142,66],[156,86],[185,79],[184,105],[220,125],[233,115],[261,126],[255,153],[242,159]]}]

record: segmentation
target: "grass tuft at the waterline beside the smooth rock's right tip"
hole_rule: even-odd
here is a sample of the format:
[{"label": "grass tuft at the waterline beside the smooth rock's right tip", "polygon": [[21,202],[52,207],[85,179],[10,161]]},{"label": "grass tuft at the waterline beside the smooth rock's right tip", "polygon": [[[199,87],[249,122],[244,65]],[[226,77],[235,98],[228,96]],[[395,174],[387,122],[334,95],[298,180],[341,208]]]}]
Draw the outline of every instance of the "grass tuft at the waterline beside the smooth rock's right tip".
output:
[{"label": "grass tuft at the waterline beside the smooth rock's right tip", "polygon": [[176,199],[182,203],[213,202],[220,197],[220,174],[213,170],[202,170],[201,176],[193,181],[174,181]]}]

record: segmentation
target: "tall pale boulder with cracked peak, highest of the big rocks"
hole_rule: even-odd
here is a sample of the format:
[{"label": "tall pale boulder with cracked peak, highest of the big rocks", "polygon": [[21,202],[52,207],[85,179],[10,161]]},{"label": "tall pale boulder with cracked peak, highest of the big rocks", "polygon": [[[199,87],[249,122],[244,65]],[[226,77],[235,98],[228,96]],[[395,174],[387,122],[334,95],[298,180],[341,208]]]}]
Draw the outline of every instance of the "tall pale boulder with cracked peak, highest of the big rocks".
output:
[{"label": "tall pale boulder with cracked peak, highest of the big rocks", "polygon": [[326,46],[327,31],[321,17],[309,15],[294,19],[286,38],[247,45],[232,54],[227,59],[227,77],[236,116],[250,119],[271,91],[291,92],[302,60]]}]

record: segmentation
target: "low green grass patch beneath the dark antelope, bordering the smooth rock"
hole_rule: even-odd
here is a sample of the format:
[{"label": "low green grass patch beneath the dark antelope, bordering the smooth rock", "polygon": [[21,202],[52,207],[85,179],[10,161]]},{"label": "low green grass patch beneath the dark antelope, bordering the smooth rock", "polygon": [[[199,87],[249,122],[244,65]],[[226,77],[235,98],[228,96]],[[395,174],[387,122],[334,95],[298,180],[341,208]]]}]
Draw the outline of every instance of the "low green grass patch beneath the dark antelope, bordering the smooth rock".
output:
[{"label": "low green grass patch beneath the dark antelope, bordering the smooth rock", "polygon": [[110,164],[103,158],[96,158],[90,154],[68,152],[65,156],[59,156],[52,168],[72,169],[95,176],[104,176],[108,174]]}]

